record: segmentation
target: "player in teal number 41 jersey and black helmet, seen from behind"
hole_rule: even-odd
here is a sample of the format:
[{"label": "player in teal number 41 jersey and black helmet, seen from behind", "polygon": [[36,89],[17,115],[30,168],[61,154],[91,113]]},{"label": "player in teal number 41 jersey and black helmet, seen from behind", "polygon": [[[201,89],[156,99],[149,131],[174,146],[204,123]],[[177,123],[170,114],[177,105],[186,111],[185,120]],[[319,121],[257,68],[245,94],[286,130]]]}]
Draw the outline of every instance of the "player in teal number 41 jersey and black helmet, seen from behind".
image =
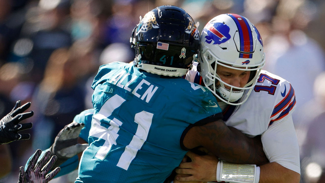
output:
[{"label": "player in teal number 41 jersey and black helmet, seen from behind", "polygon": [[149,11],[131,44],[136,64],[102,65],[94,79],[89,147],[75,183],[163,182],[199,146],[231,162],[267,162],[258,139],[225,125],[208,89],[181,78],[199,48],[188,13]]}]

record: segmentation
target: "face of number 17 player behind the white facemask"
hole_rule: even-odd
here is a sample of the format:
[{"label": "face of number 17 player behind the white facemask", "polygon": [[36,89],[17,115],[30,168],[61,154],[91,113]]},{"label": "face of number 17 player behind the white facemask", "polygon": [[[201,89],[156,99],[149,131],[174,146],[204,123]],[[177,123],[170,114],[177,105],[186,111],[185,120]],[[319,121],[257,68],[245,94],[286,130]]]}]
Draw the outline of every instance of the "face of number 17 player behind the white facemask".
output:
[{"label": "face of number 17 player behind the white facemask", "polygon": [[[241,71],[236,69],[231,69],[222,65],[217,66],[217,74],[223,80],[229,85],[235,86],[235,87],[241,87],[243,88],[249,79],[251,71]],[[217,86],[220,84],[220,82],[217,82]],[[225,85],[227,89],[230,90],[230,87]],[[237,89],[233,89],[234,91],[238,91]]]}]

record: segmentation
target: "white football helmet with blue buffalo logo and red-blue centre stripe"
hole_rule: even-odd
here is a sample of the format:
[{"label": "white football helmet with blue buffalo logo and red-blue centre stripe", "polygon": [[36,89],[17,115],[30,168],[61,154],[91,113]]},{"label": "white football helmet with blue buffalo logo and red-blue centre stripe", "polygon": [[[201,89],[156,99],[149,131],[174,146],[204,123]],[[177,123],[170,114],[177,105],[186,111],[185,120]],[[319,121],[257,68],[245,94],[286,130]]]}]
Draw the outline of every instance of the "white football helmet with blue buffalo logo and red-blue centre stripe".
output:
[{"label": "white football helmet with blue buffalo logo and red-blue centre stripe", "polygon": [[[203,28],[198,70],[205,86],[227,104],[240,105],[247,100],[265,65],[264,58],[261,35],[243,16],[222,14],[211,19]],[[227,84],[216,73],[218,65],[251,71],[248,83],[243,88]],[[218,81],[220,85],[216,86]]]}]

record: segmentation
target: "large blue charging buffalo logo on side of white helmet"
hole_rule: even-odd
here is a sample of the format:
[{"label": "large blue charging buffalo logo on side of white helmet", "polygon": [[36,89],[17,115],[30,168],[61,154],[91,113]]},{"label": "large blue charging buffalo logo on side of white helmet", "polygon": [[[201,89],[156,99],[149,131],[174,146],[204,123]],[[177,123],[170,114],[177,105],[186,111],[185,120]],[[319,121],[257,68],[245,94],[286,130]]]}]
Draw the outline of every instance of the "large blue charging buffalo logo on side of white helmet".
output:
[{"label": "large blue charging buffalo logo on side of white helmet", "polygon": [[221,44],[226,42],[230,39],[229,34],[229,26],[220,22],[216,23],[207,23],[205,25],[205,28],[203,29],[203,32],[206,32],[205,36],[205,42],[211,43],[213,41],[213,44]]}]

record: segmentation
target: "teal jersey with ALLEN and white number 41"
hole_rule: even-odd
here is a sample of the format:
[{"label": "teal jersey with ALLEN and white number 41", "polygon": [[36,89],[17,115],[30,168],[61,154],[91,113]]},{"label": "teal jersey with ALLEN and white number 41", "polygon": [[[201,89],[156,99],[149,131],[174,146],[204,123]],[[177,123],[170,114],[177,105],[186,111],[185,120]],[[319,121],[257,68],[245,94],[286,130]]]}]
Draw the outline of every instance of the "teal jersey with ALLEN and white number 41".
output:
[{"label": "teal jersey with ALLEN and white number 41", "polygon": [[89,147],[75,183],[161,183],[188,151],[183,131],[221,113],[206,88],[141,72],[133,64],[102,65],[92,88]]}]

